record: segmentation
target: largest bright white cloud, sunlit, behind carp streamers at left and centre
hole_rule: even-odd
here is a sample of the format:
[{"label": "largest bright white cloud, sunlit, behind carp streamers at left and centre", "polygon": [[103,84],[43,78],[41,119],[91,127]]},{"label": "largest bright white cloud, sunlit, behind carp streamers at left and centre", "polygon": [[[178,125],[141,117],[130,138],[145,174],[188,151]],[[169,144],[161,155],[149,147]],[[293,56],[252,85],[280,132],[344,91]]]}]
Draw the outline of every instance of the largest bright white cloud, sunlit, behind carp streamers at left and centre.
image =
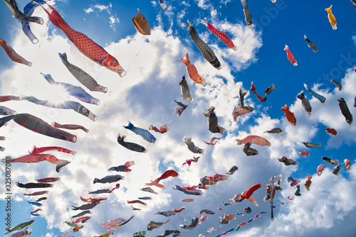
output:
[{"label": "largest bright white cloud, sunlit, behind carp streamers at left and centre", "polygon": [[[257,37],[259,36],[257,35]],[[184,111],[181,118],[174,116],[175,105],[172,102],[174,99],[181,100],[181,97],[179,96],[180,89],[178,86],[178,82],[180,80],[179,77],[181,76],[177,77],[177,75],[187,75],[185,66],[182,62],[177,60],[185,53],[185,49],[182,48],[181,40],[177,37],[169,35],[169,33],[165,33],[160,28],[153,28],[152,35],[148,38],[150,40],[149,43],[147,43],[146,36],[139,35],[138,33],[135,36],[127,36],[127,38],[120,40],[119,43],[111,43],[108,47],[106,47],[106,50],[108,50],[110,54],[115,55],[122,67],[127,70],[127,75],[121,79],[109,70],[106,70],[99,65],[95,65],[93,62],[88,60],[88,58],[83,57],[83,55],[80,54],[76,48],[73,48],[72,45],[68,44],[68,40],[66,38],[62,38],[58,35],[53,35],[49,38],[51,38],[51,41],[43,41],[41,43],[41,50],[36,51],[36,53],[39,55],[46,53],[46,55],[53,56],[46,58],[36,57],[36,60],[33,60],[33,65],[46,65],[46,67],[32,67],[31,70],[22,68],[21,70],[18,70],[20,65],[16,65],[13,70],[3,72],[2,78],[5,79],[4,82],[8,82],[4,83],[1,87],[3,94],[22,94],[24,89],[23,78],[31,78],[31,84],[26,87],[25,93],[27,95],[37,95],[41,99],[46,99],[46,95],[43,95],[43,90],[35,86],[35,84],[43,84],[43,86],[46,85],[48,89],[51,88],[51,86],[47,85],[45,80],[40,75],[40,71],[43,73],[51,73],[53,78],[58,82],[80,85],[62,65],[62,62],[58,57],[58,52],[66,52],[68,60],[71,63],[88,72],[95,79],[97,79],[100,84],[108,87],[110,92],[107,94],[90,92],[90,94],[93,94],[93,96],[98,97],[102,101],[100,106],[105,105],[105,110],[103,111],[100,110],[100,108],[103,107],[97,108],[95,106],[86,105],[90,111],[93,111],[93,113],[99,116],[98,121],[94,124],[92,124],[91,121],[88,121],[87,118],[70,111],[61,111],[61,113],[54,116],[47,116],[46,121],[48,121],[48,123],[51,123],[51,121],[57,121],[58,123],[80,123],[89,128],[90,133],[88,133],[88,136],[86,136],[87,134],[83,134],[82,131],[72,131],[72,133],[75,133],[78,136],[77,144],[68,144],[58,140],[51,141],[48,140],[48,138],[43,138],[39,135],[37,136],[31,131],[27,131],[29,136],[24,136],[23,134],[25,131],[23,130],[25,129],[18,128],[19,126],[17,125],[14,126],[16,130],[20,131],[14,131],[14,134],[11,135],[12,138],[16,137],[17,139],[19,136],[23,137],[21,139],[21,143],[23,144],[23,147],[28,146],[27,150],[31,149],[31,146],[33,145],[33,137],[36,137],[36,140],[38,140],[36,143],[37,146],[40,146],[41,144],[50,145],[48,143],[53,143],[56,145],[61,144],[62,146],[72,150],[78,150],[79,148],[75,157],[66,154],[63,155],[54,153],[56,155],[60,155],[62,159],[70,160],[71,163],[66,172],[61,174],[61,182],[59,182],[58,185],[51,190],[53,194],[51,195],[51,199],[46,203],[47,209],[43,211],[42,216],[46,216],[48,228],[52,229],[53,227],[56,227],[61,229],[61,231],[67,231],[67,226],[61,224],[62,221],[58,221],[58,219],[64,221],[75,214],[75,211],[70,210],[71,205],[80,206],[83,204],[83,202],[80,202],[79,197],[82,196],[87,198],[88,190],[91,191],[95,189],[112,188],[114,184],[93,184],[94,177],[101,178],[106,175],[112,175],[112,172],[108,172],[108,168],[122,165],[127,160],[135,160],[132,172],[123,174],[125,175],[125,180],[120,182],[121,188],[108,195],[109,199],[107,201],[93,209],[95,214],[92,216],[92,220],[90,221],[93,221],[93,223],[96,221],[105,221],[104,216],[108,216],[110,219],[117,218],[119,216],[117,216],[114,209],[108,212],[108,210],[111,209],[110,206],[113,205],[116,209],[128,209],[129,206],[126,204],[126,200],[137,199],[137,197],[140,196],[149,195],[153,197],[152,200],[147,201],[147,206],[142,207],[140,217],[135,217],[136,221],[139,221],[144,225],[147,223],[147,218],[153,218],[155,220],[162,219],[161,216],[152,217],[152,214],[155,213],[157,209],[163,211],[165,209],[168,210],[169,206],[174,206],[176,209],[184,205],[191,206],[191,204],[182,204],[179,202],[179,199],[187,197],[179,191],[172,190],[172,186],[173,184],[197,184],[200,177],[203,177],[204,175],[214,175],[214,173],[211,172],[211,170],[209,171],[209,169],[204,165],[204,159],[208,158],[201,158],[203,161],[198,162],[197,164],[194,163],[189,171],[182,170],[179,178],[169,178],[168,180],[162,181],[162,184],[166,186],[166,189],[161,190],[153,187],[153,189],[159,192],[159,195],[150,195],[140,191],[140,187],[144,187],[145,182],[154,180],[165,170],[164,169],[162,171],[157,168],[159,166],[159,160],[162,160],[162,158],[164,158],[164,164],[175,169],[177,169],[177,167],[181,167],[184,160],[192,158],[193,154],[182,142],[183,136],[193,136],[194,142],[200,146],[204,146],[204,143],[202,143],[198,138],[201,137],[202,134],[205,134],[204,137],[206,139],[210,136],[210,132],[206,131],[205,122],[204,126],[199,126],[200,128],[197,131],[192,130],[190,134],[179,133],[179,128],[186,123],[185,120],[188,116],[196,118],[202,116],[202,111],[194,111],[194,105],[189,105],[188,109]],[[26,48],[28,45],[26,40],[23,40],[22,42],[22,37],[19,38],[19,40],[23,43],[21,47]],[[21,47],[19,50],[21,50]],[[221,53],[224,51],[218,52]],[[31,49],[28,50],[28,54],[31,55]],[[195,58],[197,57],[200,56],[196,55]],[[150,60],[147,61],[147,58],[150,58]],[[209,63],[197,62],[197,65],[199,65],[202,72],[206,70],[204,75],[211,72],[211,65],[209,65]],[[228,67],[226,67],[225,70],[226,72],[222,75],[228,79],[229,85],[236,87],[237,90],[239,84],[234,83],[233,77],[229,75]],[[154,80],[152,80],[152,76],[155,77]],[[9,77],[11,77],[12,80],[6,79]],[[220,77],[217,77],[215,80],[211,80],[208,87],[216,87],[219,84],[219,86],[223,87],[222,89],[226,88],[227,86],[224,85],[224,82],[220,79]],[[197,91],[197,89],[200,89],[200,87],[193,84],[189,78],[187,79],[189,80],[189,86],[191,87],[191,91],[193,93],[194,91]],[[117,84],[119,87],[117,87]],[[157,94],[157,92],[164,93]],[[155,97],[150,97],[150,94],[152,93],[155,94]],[[206,101],[214,94],[216,95],[216,92],[214,92],[212,88],[208,89],[204,93],[206,94],[205,96],[204,94],[197,95],[198,104],[203,103],[203,101]],[[224,97],[235,96],[236,94],[224,94]],[[167,100],[167,98],[169,98],[169,100]],[[152,99],[154,99],[154,101],[152,101]],[[105,101],[107,100],[108,102],[105,104]],[[14,103],[14,109],[16,109],[18,113],[22,113],[23,104],[21,103],[26,103],[26,101],[17,102],[17,104]],[[153,104],[160,105],[152,106]],[[192,110],[190,110],[191,107],[194,109],[193,114]],[[35,108],[37,111],[36,114],[40,117],[42,117],[41,114],[48,114],[46,112],[48,111],[48,108],[28,104],[27,109],[31,114],[33,114]],[[217,106],[217,108],[219,107]],[[218,116],[224,115],[219,114],[219,110],[220,108],[217,109]],[[120,113],[117,114],[117,111],[120,111]],[[63,116],[63,114],[68,115]],[[150,119],[146,118],[148,114],[150,114]],[[231,111],[229,111],[228,114],[229,117],[231,117]],[[205,117],[203,119],[206,120]],[[170,135],[167,133],[159,136],[159,134],[152,132],[159,139],[159,143],[157,145],[152,145],[142,140],[140,136],[135,136],[131,131],[127,131],[125,128],[122,128],[122,125],[127,125],[128,120],[134,123],[135,126],[142,128],[148,128],[151,123],[155,126],[170,123],[172,124],[171,130],[169,131]],[[224,121],[224,119],[222,119],[222,121]],[[108,124],[110,124],[110,126],[108,126]],[[132,153],[130,150],[122,148],[122,146],[117,144],[117,133],[127,136],[127,141],[145,145],[149,152],[142,154]],[[83,144],[80,145],[80,141],[83,141]],[[98,143],[98,141],[100,141],[100,143]],[[78,145],[80,145],[80,147]],[[8,148],[9,150],[14,150],[14,148],[11,148],[10,145]],[[23,155],[23,150],[18,150],[18,153],[13,154],[14,157],[19,155]],[[55,165],[50,163],[41,162],[38,164],[29,164],[26,165],[26,167],[29,167],[30,165],[32,169],[22,174],[23,177],[26,177],[26,182],[31,182],[37,178],[33,170],[38,170],[43,167],[46,167],[46,169],[51,173],[50,176],[58,176],[54,171]],[[175,165],[175,167],[172,165]],[[205,168],[204,170],[199,171],[199,167],[201,167],[201,165],[204,165]],[[226,167],[221,167],[219,172],[224,172],[227,168],[227,165]],[[147,172],[147,170],[150,170],[150,172]],[[193,170],[194,172],[192,172]],[[45,175],[45,173],[43,173],[43,175]],[[137,177],[140,177],[140,180],[137,180]],[[124,187],[127,188],[126,192],[123,191]],[[224,186],[220,185],[220,187]],[[211,194],[212,193],[214,193],[214,191],[211,191]],[[209,197],[209,194],[206,195]],[[217,195],[216,197],[219,196],[218,194],[215,195]],[[62,201],[64,199],[66,202]],[[117,201],[114,201],[115,199]],[[209,198],[206,200],[209,200]],[[187,215],[190,215],[188,211],[185,210],[185,212],[186,214],[184,215],[180,214],[180,218],[183,218],[182,216],[185,218]],[[130,214],[122,214],[121,216],[129,218]],[[147,217],[144,218],[144,216]],[[179,214],[177,216],[179,216]],[[177,224],[182,223],[179,219],[178,221],[176,219],[176,222],[178,222]],[[100,230],[101,227],[98,225],[88,225],[83,228],[81,233],[84,235],[88,233],[92,234],[93,232],[100,234],[100,232],[103,232]]]}]

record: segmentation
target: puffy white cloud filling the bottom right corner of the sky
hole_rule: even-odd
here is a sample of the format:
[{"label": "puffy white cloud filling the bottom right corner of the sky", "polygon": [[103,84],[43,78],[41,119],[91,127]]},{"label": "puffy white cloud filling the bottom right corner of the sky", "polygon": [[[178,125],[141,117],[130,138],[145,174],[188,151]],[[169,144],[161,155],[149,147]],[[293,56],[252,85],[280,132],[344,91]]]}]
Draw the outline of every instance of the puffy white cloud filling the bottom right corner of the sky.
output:
[{"label": "puffy white cloud filling the bottom right corner of the sky", "polygon": [[[335,226],[350,218],[350,213],[355,211],[356,205],[352,202],[352,197],[355,195],[355,174],[355,171],[351,170],[349,179],[337,177],[329,169],[320,177],[313,174],[310,192],[304,189],[300,197],[292,201],[286,200],[283,206],[285,211],[278,216],[278,221],[255,226],[248,231],[241,231],[240,234],[246,236],[288,236],[290,233],[294,236],[337,235]],[[287,187],[283,193],[293,193],[294,189]],[[345,236],[352,236],[350,228],[346,227],[346,229]]]}]

